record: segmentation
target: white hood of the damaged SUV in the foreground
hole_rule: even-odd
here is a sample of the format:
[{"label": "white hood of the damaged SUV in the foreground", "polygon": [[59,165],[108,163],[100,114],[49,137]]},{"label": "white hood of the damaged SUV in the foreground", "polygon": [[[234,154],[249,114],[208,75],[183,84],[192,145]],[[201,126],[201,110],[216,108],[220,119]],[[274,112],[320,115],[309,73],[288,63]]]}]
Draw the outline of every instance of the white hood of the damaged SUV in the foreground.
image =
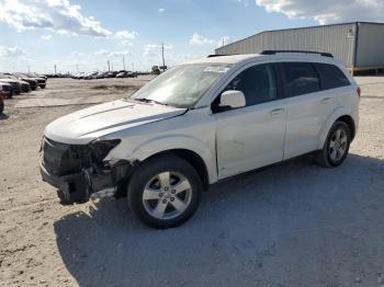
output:
[{"label": "white hood of the damaged SUV in the foreground", "polygon": [[181,115],[187,108],[117,100],[59,117],[45,128],[58,142],[84,145],[122,129]]}]

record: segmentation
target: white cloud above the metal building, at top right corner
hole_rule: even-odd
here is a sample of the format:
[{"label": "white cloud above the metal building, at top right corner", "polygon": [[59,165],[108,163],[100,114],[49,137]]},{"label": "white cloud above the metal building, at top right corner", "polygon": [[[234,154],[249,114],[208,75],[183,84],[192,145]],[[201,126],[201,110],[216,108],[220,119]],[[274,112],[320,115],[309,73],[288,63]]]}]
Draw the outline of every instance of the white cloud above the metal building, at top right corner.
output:
[{"label": "white cloud above the metal building, at top right corner", "polygon": [[313,19],[319,24],[348,21],[383,21],[384,2],[376,0],[256,0],[268,12],[290,19]]}]

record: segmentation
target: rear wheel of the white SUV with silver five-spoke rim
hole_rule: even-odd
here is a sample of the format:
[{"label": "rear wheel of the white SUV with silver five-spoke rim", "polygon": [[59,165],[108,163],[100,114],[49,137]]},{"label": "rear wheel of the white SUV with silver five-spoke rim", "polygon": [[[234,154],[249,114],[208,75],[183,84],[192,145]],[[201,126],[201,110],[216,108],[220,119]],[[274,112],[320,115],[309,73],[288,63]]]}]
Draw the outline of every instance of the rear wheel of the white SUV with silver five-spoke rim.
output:
[{"label": "rear wheel of the white SUV with silver five-spoke rim", "polygon": [[351,144],[351,130],[345,122],[335,122],[329,129],[317,162],[325,168],[336,168],[347,158]]}]

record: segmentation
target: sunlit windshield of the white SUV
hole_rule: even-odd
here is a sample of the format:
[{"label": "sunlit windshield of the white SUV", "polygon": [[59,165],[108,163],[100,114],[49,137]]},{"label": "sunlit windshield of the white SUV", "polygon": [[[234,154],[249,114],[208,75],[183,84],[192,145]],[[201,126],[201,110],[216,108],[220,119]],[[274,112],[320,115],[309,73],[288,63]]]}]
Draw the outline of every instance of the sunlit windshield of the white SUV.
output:
[{"label": "sunlit windshield of the white SUV", "polygon": [[181,65],[144,85],[131,99],[192,107],[229,67],[227,64]]}]

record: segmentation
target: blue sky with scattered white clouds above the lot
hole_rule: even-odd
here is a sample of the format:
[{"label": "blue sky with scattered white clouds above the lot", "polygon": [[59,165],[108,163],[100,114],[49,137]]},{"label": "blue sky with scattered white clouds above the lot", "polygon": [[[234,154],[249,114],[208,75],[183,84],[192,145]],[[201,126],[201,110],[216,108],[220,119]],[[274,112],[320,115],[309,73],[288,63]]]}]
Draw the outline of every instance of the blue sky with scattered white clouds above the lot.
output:
[{"label": "blue sky with scattered white clouds above the lot", "polygon": [[383,0],[0,0],[0,71],[150,70],[266,30],[384,22]]}]

